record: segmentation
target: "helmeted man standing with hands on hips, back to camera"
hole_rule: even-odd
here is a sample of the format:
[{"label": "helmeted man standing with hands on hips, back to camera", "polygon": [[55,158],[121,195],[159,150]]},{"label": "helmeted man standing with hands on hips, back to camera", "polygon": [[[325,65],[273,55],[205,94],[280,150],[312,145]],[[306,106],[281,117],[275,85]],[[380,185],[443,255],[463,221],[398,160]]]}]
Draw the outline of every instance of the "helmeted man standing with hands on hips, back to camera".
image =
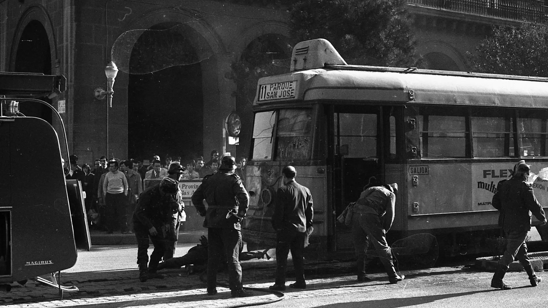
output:
[{"label": "helmeted man standing with hands on hips, back to camera", "polygon": [[[232,297],[249,296],[252,293],[242,287],[242,267],[238,258],[242,249],[240,222],[246,216],[249,195],[242,180],[234,174],[234,157],[223,157],[219,169],[218,173],[206,176],[192,195],[196,210],[201,216],[206,216],[203,226],[208,228],[207,294],[217,294],[217,268],[221,250],[224,250]],[[208,204],[207,210],[204,199]]]}]

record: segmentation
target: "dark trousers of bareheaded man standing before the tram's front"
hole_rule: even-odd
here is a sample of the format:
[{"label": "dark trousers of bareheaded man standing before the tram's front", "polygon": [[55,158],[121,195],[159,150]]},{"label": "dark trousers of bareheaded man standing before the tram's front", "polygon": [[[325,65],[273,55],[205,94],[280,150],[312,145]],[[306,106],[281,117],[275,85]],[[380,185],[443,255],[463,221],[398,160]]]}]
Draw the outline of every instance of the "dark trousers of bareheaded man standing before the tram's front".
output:
[{"label": "dark trousers of bareheaded man standing before the tram's front", "polygon": [[302,251],[305,247],[305,232],[282,229],[276,232],[276,284],[286,284],[287,255],[291,250],[295,267],[296,283],[305,283],[305,267]]}]

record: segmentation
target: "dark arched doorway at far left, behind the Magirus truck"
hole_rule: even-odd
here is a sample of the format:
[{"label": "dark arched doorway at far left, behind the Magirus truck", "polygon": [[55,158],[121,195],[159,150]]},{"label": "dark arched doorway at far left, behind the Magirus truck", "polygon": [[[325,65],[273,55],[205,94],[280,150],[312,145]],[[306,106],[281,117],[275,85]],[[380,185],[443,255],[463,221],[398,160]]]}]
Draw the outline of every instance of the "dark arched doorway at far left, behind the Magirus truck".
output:
[{"label": "dark arched doorway at far left, behind the Magirus truck", "polygon": [[[28,22],[18,42],[15,72],[52,74],[52,54],[48,34],[38,20]],[[42,98],[51,104],[48,98]],[[27,117],[39,117],[52,124],[52,111],[38,102],[20,104],[20,112]]]}]

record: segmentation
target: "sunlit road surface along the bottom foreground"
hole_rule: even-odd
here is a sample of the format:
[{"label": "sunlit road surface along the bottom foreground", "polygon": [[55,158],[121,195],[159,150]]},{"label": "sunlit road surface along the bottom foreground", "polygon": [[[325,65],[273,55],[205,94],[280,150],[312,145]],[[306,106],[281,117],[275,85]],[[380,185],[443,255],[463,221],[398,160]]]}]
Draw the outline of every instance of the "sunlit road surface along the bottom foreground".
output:
[{"label": "sunlit road surface along the bottom foreground", "polygon": [[[309,280],[309,289],[288,289],[285,298],[266,308],[326,307],[541,307],[546,303],[548,283],[529,287],[523,272],[507,275],[506,282],[516,287],[496,290],[489,287],[492,273],[467,270],[463,267],[444,267],[432,270],[407,272],[403,283],[388,284],[384,273],[371,275],[374,281],[356,283],[353,277],[316,278]],[[548,277],[547,277],[548,278]],[[249,286],[265,288],[270,282]],[[33,305],[8,305],[7,307],[233,307],[273,301],[276,295],[255,292],[256,296],[244,299],[230,298],[229,290],[219,288],[217,296],[207,296],[205,289],[172,290],[145,294],[99,296],[37,303]]]}]

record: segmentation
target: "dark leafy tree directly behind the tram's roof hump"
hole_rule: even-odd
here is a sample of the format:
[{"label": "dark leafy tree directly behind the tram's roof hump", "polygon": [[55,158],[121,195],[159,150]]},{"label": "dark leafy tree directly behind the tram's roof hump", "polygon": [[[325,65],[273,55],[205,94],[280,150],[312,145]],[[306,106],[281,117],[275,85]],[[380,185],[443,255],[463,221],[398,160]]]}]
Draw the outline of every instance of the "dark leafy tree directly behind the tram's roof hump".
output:
[{"label": "dark leafy tree directly behind the tram's roof hump", "polygon": [[290,9],[293,38],[326,38],[350,64],[415,64],[405,0],[302,0]]}]

